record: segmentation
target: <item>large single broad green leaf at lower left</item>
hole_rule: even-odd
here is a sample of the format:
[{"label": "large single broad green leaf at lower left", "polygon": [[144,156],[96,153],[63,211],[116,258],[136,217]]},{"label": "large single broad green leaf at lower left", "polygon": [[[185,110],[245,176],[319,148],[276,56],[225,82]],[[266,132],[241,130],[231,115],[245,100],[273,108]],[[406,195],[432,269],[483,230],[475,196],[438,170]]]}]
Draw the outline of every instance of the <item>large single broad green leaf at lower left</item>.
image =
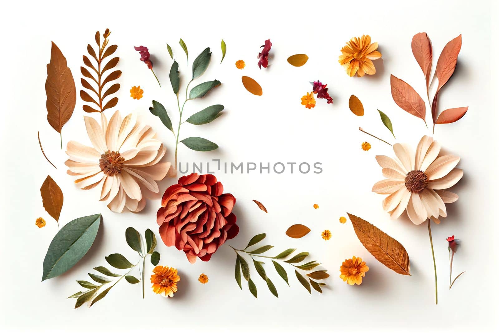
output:
[{"label": "large single broad green leaf at lower left", "polygon": [[41,281],[61,275],[83,258],[97,236],[100,219],[100,214],[80,217],[59,230],[43,260]]}]

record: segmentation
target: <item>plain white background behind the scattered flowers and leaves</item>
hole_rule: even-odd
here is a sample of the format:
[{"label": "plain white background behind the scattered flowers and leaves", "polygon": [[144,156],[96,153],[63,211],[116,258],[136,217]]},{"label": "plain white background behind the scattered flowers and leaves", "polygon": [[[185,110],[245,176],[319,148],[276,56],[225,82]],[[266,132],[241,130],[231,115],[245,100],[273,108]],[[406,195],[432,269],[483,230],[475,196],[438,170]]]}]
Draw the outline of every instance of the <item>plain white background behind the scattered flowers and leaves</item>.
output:
[{"label": "plain white background behind the scattered flowers and leaves", "polygon": [[[491,8],[489,1],[14,1],[3,4],[1,16],[2,328],[25,332],[490,332],[497,326],[498,119],[493,96],[498,38],[492,32],[497,7]],[[95,266],[108,266],[104,256],[110,253],[135,257],[125,242],[127,227],[157,232],[159,199],[149,201],[140,214],[116,214],[97,201],[95,191],[77,189],[65,173],[67,157],[59,149],[59,135],[46,121],[44,82],[50,41],[67,58],[79,94],[79,66],[86,44],[94,43],[96,30],[107,27],[112,30],[110,42],[119,46],[118,67],[123,71],[118,80],[118,109],[123,114],[135,112],[151,124],[169,148],[169,160],[173,160],[173,136],[148,107],[156,99],[168,108],[173,122],[178,121],[166,43],[173,48],[185,84],[191,69],[178,44],[182,37],[190,63],[205,47],[213,51],[208,71],[197,82],[216,78],[223,83],[206,98],[189,102],[185,113],[218,103],[226,111],[208,125],[183,125],[181,137],[206,137],[220,149],[203,153],[180,145],[179,161],[322,163],[324,171],[319,175],[217,173],[225,191],[237,198],[241,232],[228,244],[242,248],[253,235],[265,232],[265,243],[275,246],[272,253],[289,247],[309,251],[311,259],[323,263],[321,267],[331,274],[322,295],[310,296],[290,269],[291,287],[287,287],[267,267],[279,298],[252,270],[258,288],[255,299],[247,285],[239,290],[234,280],[235,255],[228,245],[210,262],[191,265],[182,252],[160,241],[160,264],[178,268],[181,275],[173,299],[155,295],[148,287],[143,300],[140,285],[122,280],[92,308],[73,309],[74,300],[66,297],[80,290],[75,280],[86,279]],[[448,217],[440,225],[433,225],[438,306],[426,225],[413,225],[405,215],[391,221],[381,207],[383,196],[371,192],[382,179],[375,155],[393,156],[393,151],[358,131],[362,126],[395,142],[379,119],[376,109],[380,109],[391,118],[397,141],[415,146],[422,135],[431,134],[390,94],[390,74],[394,74],[424,96],[424,76],[411,52],[411,38],[421,31],[433,42],[434,64],[444,45],[463,34],[458,68],[442,90],[439,108],[470,107],[459,122],[438,125],[435,131],[435,139],[446,151],[461,157],[459,167],[465,173],[454,188],[460,199],[448,205]],[[383,59],[375,61],[376,75],[350,78],[338,64],[338,55],[347,40],[362,34],[379,42]],[[227,43],[222,64],[221,38]],[[256,55],[267,38],[273,43],[272,65],[260,70]],[[149,47],[162,88],[139,61],[133,49],[138,45]],[[286,62],[295,53],[308,54],[303,67]],[[244,70],[236,69],[238,59],[246,61]],[[248,93],[242,75],[256,79],[263,95]],[[317,78],[327,83],[334,104],[317,100],[317,106],[308,110],[300,105],[300,97],[311,90],[308,81]],[[132,85],[144,89],[142,99],[129,97]],[[349,111],[351,94],[363,102],[364,117]],[[64,144],[69,140],[89,144],[81,107],[78,97],[73,116],[62,130]],[[105,112],[109,117],[112,111]],[[427,113],[431,123],[429,107]],[[37,131],[57,170],[41,155]],[[360,149],[365,140],[372,144],[368,152]],[[57,232],[39,193],[47,174],[64,193],[61,226],[99,212],[103,223],[93,247],[75,267],[41,283],[43,258]],[[174,182],[171,178],[161,182],[160,190]],[[268,214],[251,199],[261,201]],[[314,210],[314,203],[320,208]],[[377,262],[358,241],[351,223],[338,222],[346,211],[400,241],[410,255],[412,276],[395,274]],[[47,220],[42,229],[34,225],[39,216]],[[290,239],[284,231],[294,223],[312,231],[302,239]],[[331,230],[330,241],[320,238],[324,229]],[[453,274],[466,273],[449,291],[446,237],[451,235],[462,240]],[[349,286],[338,277],[341,262],[353,255],[370,267],[361,286]],[[152,267],[147,266],[150,274]],[[209,276],[208,284],[197,281],[201,273]]]}]

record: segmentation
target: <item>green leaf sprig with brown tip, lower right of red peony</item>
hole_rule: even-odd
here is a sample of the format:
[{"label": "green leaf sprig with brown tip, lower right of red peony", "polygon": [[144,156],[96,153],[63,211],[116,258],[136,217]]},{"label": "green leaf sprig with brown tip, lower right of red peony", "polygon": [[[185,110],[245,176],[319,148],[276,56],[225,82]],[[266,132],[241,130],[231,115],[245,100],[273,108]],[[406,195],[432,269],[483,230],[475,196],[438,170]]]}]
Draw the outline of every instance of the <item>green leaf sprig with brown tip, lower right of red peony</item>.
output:
[{"label": "green leaf sprig with brown tip, lower right of red peony", "polygon": [[[253,245],[259,243],[265,238],[265,234],[259,234],[251,238],[250,242],[248,243],[247,247],[244,248],[243,250],[235,249],[233,250],[236,252],[236,270],[235,270],[235,277],[236,277],[236,282],[239,285],[239,288],[243,289],[241,285],[241,272],[243,272],[243,278],[248,281],[248,288],[250,289],[250,293],[256,297],[256,286],[253,283],[253,281],[250,278],[250,266],[248,265],[248,262],[246,259],[243,258],[241,255],[242,253],[248,255],[250,259],[253,262],[253,266],[256,270],[256,273],[267,283],[268,290],[270,290],[270,293],[272,293],[273,296],[279,297],[277,294],[277,290],[275,289],[274,284],[270,279],[268,278],[265,269],[263,268],[263,265],[265,264],[264,262],[260,261],[260,258],[264,259],[270,259],[270,261],[273,264],[273,267],[275,271],[277,271],[277,274],[286,282],[286,284],[289,286],[289,281],[287,277],[286,270],[277,262],[277,260],[284,260],[286,257],[290,256],[296,249],[287,249],[276,255],[275,257],[270,257],[270,256],[262,256],[262,253],[267,252],[273,246],[271,245],[264,245],[262,247],[259,247],[254,250],[249,250],[248,248],[252,247]],[[310,289],[310,286],[312,286],[313,289],[315,289],[317,292],[322,294],[322,289],[320,286],[325,286],[325,283],[319,283],[314,280],[323,280],[329,277],[329,274],[327,274],[327,271],[319,270],[319,271],[314,271],[311,273],[306,274],[305,278],[301,271],[311,271],[317,266],[320,265],[317,261],[310,261],[307,263],[301,263],[306,257],[308,257],[309,253],[308,252],[300,252],[291,259],[288,259],[286,261],[283,261],[286,264],[291,265],[294,268],[294,273],[296,276],[296,279],[300,282],[300,284],[308,291],[309,294],[312,294],[312,291]]]}]

